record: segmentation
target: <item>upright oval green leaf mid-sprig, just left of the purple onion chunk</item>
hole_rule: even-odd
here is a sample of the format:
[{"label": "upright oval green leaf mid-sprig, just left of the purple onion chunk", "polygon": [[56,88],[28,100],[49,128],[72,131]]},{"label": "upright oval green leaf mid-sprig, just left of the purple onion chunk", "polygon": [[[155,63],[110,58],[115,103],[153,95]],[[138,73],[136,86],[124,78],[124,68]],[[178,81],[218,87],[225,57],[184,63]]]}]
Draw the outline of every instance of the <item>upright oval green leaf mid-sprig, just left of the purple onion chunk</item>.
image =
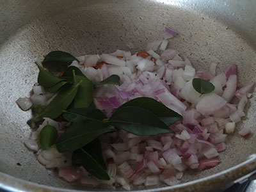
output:
[{"label": "upright oval green leaf mid-sprig, just left of the purple onion chunk", "polygon": [[81,81],[74,99],[74,108],[86,108],[93,101],[93,84],[85,76],[76,76],[76,81]]}]

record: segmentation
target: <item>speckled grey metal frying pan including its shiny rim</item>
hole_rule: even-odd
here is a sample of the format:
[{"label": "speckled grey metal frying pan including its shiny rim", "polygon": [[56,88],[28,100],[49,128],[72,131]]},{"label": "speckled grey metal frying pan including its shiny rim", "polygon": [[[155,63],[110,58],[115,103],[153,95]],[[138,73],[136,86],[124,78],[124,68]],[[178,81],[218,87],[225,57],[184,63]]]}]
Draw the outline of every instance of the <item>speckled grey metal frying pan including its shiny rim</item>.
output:
[{"label": "speckled grey metal frying pan including its shiny rim", "polygon": [[[211,61],[218,70],[238,65],[239,86],[255,81],[256,1],[252,0],[92,0],[0,1],[0,188],[10,191],[105,191],[69,184],[39,164],[24,147],[31,129],[31,113],[15,100],[29,96],[38,69],[34,61],[50,51],[76,56],[145,49],[161,39],[163,26],[179,31],[170,43],[198,70]],[[188,38],[189,36],[189,38]],[[254,173],[256,100],[250,99],[246,117],[227,138],[221,164],[204,172],[188,172],[177,186],[154,186],[148,191],[221,191]],[[237,132],[252,129],[245,140]],[[242,178],[242,179],[241,179]],[[145,191],[142,186],[134,190]]]}]

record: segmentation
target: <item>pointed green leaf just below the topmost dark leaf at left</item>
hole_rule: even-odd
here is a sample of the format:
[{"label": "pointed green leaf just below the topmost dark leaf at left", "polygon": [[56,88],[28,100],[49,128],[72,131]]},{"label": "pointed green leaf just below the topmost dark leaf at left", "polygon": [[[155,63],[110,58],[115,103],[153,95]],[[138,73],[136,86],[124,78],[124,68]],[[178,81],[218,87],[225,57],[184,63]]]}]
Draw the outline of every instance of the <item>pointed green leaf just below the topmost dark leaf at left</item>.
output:
[{"label": "pointed green leaf just below the topmost dark leaf at left", "polygon": [[38,68],[40,71],[38,74],[37,82],[44,86],[44,88],[52,87],[63,81],[63,79],[60,79],[59,77],[52,76],[52,74],[44,70],[44,68],[40,67],[39,65]]}]

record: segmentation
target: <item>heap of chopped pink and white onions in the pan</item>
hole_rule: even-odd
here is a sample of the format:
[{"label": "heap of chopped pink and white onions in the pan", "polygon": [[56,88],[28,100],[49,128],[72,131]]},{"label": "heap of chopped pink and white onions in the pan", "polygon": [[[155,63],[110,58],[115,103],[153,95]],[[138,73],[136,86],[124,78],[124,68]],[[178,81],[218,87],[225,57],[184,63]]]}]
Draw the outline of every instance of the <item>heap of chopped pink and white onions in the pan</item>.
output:
[{"label": "heap of chopped pink and white onions in the pan", "polygon": [[[63,163],[70,161],[70,157],[61,156],[56,150],[44,153],[39,150],[40,163],[47,168],[58,167],[60,177],[68,182],[81,179],[82,184],[119,184],[127,190],[131,185],[154,186],[161,182],[173,186],[179,184],[188,169],[205,170],[220,163],[218,156],[226,148],[227,134],[232,134],[236,123],[245,116],[244,106],[254,83],[237,89],[236,65],[225,67],[217,75],[216,63],[211,63],[209,70],[196,71],[188,58],[166,49],[168,38],[177,33],[170,28],[165,31],[164,40],[148,44],[147,52],[131,54],[117,50],[111,54],[80,56],[79,62],[73,61],[71,65],[79,67],[92,81],[102,81],[113,74],[120,76],[120,86],[107,84],[95,90],[94,104],[107,116],[128,100],[152,97],[183,116],[182,122],[171,126],[175,134],[136,136],[119,131],[100,136],[111,177],[108,181],[92,179],[83,168]],[[200,95],[193,88],[195,77],[210,81],[214,91]],[[42,87],[34,86],[33,92],[30,99],[34,104],[49,102],[50,97]],[[231,102],[234,97],[239,99],[238,104]],[[24,109],[27,108],[25,105]],[[60,122],[51,124],[60,130]],[[242,129],[239,134],[246,136],[250,129]],[[33,140],[26,145],[34,151],[39,149]]]}]

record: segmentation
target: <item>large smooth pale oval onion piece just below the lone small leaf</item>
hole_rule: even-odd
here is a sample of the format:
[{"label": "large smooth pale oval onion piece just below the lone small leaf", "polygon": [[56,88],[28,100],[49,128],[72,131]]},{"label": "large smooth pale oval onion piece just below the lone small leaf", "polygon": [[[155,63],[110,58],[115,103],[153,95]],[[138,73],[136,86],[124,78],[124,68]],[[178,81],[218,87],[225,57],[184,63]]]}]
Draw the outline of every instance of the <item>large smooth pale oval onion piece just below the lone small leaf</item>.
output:
[{"label": "large smooth pale oval onion piece just below the lone small leaf", "polygon": [[227,104],[225,99],[215,93],[211,93],[203,96],[202,100],[196,104],[196,110],[202,115],[211,115],[225,106],[225,104]]}]

